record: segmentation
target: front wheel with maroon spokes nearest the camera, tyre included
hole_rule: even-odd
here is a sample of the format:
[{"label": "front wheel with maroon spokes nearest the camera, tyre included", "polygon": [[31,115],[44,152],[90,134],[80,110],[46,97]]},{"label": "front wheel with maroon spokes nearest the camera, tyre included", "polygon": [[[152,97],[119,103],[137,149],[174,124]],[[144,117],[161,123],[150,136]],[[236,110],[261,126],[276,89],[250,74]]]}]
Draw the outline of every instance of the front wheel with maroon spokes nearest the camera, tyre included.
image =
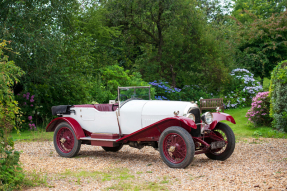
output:
[{"label": "front wheel with maroon spokes nearest the camera, tyre included", "polygon": [[[177,146],[171,146],[173,144],[169,142],[170,139],[173,139]],[[178,145],[181,146],[178,147]],[[184,148],[186,151],[184,151]],[[176,151],[179,153],[176,153]],[[172,126],[164,130],[160,135],[159,152],[163,162],[167,164],[167,166],[171,168],[186,168],[194,158],[194,142],[191,135],[185,129]],[[180,160],[177,162],[177,158],[173,159],[173,155],[182,157],[182,159],[179,158]]]}]

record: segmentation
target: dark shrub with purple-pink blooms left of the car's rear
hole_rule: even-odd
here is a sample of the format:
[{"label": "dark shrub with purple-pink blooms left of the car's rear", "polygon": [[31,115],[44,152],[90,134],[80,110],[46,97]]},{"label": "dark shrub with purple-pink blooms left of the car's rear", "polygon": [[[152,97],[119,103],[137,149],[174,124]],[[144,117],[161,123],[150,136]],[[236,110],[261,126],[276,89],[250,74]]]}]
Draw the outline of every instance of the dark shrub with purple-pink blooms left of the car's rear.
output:
[{"label": "dark shrub with purple-pink blooms left of the car's rear", "polygon": [[17,95],[17,100],[22,111],[22,115],[20,115],[20,118],[22,121],[23,130],[37,130],[37,127],[33,122],[33,116],[35,115],[34,98],[35,95],[30,95],[29,92]]}]

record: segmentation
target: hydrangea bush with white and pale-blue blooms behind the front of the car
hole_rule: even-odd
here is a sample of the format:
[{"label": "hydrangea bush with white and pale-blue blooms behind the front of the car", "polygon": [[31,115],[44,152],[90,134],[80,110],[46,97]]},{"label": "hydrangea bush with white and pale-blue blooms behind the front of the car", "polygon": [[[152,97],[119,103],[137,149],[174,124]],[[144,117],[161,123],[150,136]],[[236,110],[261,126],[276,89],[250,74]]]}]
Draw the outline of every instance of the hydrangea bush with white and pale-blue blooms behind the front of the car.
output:
[{"label": "hydrangea bush with white and pale-blue blooms behind the front of the car", "polygon": [[254,75],[246,69],[237,68],[231,71],[231,91],[225,92],[225,108],[245,107],[251,104],[252,98],[263,88]]}]

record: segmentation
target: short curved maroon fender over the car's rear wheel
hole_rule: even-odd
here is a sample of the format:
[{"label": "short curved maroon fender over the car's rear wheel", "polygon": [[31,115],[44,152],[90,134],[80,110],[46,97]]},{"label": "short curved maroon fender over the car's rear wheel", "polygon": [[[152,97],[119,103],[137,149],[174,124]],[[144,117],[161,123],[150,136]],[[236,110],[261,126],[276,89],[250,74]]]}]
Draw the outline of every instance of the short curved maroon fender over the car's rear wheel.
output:
[{"label": "short curved maroon fender over the car's rear wheel", "polygon": [[74,130],[76,137],[80,140],[81,137],[85,137],[84,130],[82,129],[81,125],[71,117],[57,117],[53,119],[46,127],[46,132],[53,132],[58,124],[61,122],[67,122],[72,129]]}]

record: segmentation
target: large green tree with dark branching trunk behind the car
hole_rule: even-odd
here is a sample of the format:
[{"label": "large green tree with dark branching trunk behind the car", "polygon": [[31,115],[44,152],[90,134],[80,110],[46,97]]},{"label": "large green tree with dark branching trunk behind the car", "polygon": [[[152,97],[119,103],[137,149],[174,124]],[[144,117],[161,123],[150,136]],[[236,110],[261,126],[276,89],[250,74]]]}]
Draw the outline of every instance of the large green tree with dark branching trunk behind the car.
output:
[{"label": "large green tree with dark branching trunk behind the car", "polygon": [[134,67],[125,66],[140,71],[145,81],[215,91],[227,77],[230,46],[221,32],[207,25],[196,2],[120,0],[103,6],[110,26],[121,26],[120,40],[128,49],[122,53],[134,62]]}]

